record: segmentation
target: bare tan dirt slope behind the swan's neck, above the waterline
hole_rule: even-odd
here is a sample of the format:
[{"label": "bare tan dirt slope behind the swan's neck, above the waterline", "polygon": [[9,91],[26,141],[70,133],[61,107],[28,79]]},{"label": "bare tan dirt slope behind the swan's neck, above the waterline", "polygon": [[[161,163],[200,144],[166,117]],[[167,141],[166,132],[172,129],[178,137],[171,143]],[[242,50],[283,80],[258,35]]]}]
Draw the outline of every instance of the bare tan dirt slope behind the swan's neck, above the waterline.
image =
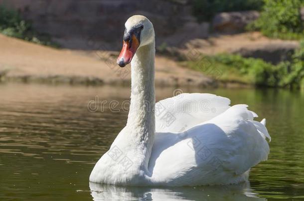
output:
[{"label": "bare tan dirt slope behind the swan's neck, above the waterline", "polygon": [[[1,80],[65,82],[84,84],[130,83],[130,65],[120,68],[115,57],[96,52],[102,59],[70,50],[57,50],[0,35]],[[101,55],[102,54],[102,55]],[[156,58],[157,85],[209,85],[206,76]]]}]

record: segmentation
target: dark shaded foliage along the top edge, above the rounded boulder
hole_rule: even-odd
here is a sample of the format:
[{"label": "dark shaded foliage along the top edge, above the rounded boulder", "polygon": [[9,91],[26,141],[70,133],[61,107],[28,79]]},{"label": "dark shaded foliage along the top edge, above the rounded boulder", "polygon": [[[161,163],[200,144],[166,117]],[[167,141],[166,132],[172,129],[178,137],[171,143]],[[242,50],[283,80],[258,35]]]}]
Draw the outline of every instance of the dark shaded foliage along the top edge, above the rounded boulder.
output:
[{"label": "dark shaded foliage along the top edge, above the rounded boulder", "polygon": [[259,10],[263,0],[194,0],[192,13],[198,21],[209,21],[218,12]]}]

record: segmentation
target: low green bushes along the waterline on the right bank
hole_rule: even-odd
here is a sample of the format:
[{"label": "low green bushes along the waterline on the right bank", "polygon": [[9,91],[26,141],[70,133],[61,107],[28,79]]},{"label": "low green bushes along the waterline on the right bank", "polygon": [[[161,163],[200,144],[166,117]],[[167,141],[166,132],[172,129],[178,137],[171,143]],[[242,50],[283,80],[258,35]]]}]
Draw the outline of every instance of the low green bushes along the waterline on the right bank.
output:
[{"label": "low green bushes along the waterline on the right bank", "polygon": [[[240,55],[219,54],[204,57],[211,65],[208,75],[216,75],[222,81],[237,81],[259,86],[304,88],[304,41],[292,56],[292,61],[278,65],[261,59],[244,58]],[[205,73],[197,61],[190,61],[186,66]],[[215,70],[217,68],[217,70]],[[214,69],[214,70],[212,70]],[[218,76],[218,71],[221,75]],[[212,74],[212,73],[217,74]]]}]

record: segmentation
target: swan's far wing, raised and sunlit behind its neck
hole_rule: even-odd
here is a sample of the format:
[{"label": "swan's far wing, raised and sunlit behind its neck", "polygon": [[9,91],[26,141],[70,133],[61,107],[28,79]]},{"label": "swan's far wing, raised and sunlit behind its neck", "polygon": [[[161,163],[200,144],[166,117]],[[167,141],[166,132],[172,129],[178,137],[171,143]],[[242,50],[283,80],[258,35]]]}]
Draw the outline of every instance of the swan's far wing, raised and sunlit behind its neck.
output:
[{"label": "swan's far wing, raised and sunlit behind its neck", "polygon": [[208,93],[182,93],[155,105],[156,132],[181,133],[226,111],[230,100]]}]

